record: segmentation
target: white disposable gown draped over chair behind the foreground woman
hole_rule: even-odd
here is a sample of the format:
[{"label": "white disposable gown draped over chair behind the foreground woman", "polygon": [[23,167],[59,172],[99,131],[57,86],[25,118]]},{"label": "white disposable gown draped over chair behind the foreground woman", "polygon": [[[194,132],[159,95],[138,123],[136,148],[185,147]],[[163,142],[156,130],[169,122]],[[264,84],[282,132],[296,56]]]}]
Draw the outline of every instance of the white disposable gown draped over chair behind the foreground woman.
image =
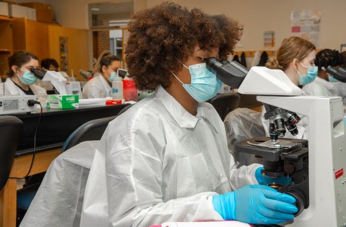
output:
[{"label": "white disposable gown draped over chair behind the foreground woman", "polygon": [[63,152],[50,164],[20,227],[79,227],[87,176],[98,141]]}]

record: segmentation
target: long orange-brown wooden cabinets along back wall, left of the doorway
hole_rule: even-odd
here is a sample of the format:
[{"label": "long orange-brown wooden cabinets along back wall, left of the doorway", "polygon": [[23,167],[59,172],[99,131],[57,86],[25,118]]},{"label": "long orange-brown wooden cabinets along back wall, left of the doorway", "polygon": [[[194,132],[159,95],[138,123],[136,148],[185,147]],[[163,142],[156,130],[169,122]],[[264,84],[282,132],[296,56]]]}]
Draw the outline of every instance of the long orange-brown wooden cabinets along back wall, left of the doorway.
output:
[{"label": "long orange-brown wooden cabinets along back wall, left of the doorway", "polygon": [[68,75],[71,70],[79,80],[80,69],[89,69],[88,31],[65,28],[26,18],[12,18],[13,51],[26,50],[35,54],[41,62],[44,58],[54,58],[60,63],[59,38],[67,38],[68,42]]}]

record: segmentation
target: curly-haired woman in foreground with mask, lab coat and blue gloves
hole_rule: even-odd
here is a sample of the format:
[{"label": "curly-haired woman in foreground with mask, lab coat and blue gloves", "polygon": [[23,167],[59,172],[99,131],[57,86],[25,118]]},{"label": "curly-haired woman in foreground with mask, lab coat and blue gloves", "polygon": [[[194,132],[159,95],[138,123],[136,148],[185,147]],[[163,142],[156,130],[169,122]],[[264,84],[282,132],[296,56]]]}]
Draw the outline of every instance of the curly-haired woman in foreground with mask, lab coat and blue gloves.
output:
[{"label": "curly-haired woman in foreground with mask, lab coat and blue gloves", "polygon": [[259,164],[235,167],[224,125],[206,100],[221,86],[206,69],[226,59],[241,27],[174,3],[136,12],[126,48],[129,77],[154,94],[119,115],[95,151],[81,226],[150,226],[164,222],[293,220],[295,199],[265,186]]}]

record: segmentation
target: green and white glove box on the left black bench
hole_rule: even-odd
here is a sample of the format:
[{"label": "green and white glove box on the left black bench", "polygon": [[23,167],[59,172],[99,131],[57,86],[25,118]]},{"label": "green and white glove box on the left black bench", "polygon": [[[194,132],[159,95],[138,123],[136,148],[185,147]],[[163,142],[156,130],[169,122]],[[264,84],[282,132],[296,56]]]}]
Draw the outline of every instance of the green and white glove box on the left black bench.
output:
[{"label": "green and white glove box on the left black bench", "polygon": [[78,95],[48,95],[47,108],[64,110],[76,109],[78,107]]}]

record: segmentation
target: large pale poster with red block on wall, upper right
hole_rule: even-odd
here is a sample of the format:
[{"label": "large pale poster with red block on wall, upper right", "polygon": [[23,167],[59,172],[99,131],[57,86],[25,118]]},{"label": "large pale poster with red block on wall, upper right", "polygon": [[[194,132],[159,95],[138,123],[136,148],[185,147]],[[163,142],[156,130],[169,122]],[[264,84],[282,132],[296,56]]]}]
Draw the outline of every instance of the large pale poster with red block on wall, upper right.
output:
[{"label": "large pale poster with red block on wall, upper right", "polygon": [[321,11],[319,9],[292,11],[291,33],[309,40],[315,46],[320,45]]}]

